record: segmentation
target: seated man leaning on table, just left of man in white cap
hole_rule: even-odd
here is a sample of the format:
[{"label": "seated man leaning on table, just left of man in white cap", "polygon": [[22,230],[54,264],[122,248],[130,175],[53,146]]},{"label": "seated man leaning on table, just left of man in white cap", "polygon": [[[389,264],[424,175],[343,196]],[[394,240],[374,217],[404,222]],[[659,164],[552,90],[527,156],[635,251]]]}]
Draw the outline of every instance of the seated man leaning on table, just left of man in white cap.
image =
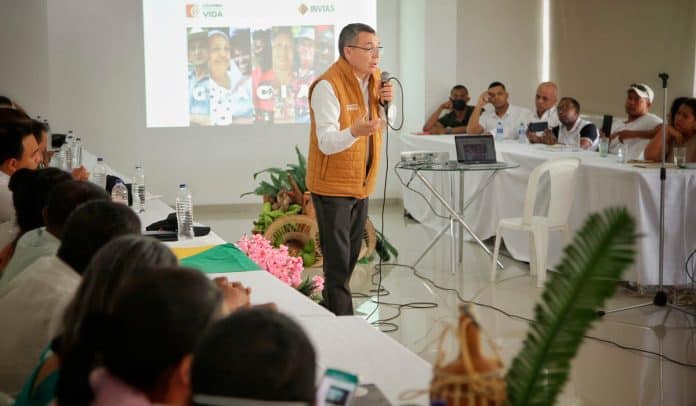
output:
[{"label": "seated man leaning on table, just left of man in white cap", "polygon": [[529,135],[531,143],[563,144],[582,149],[592,149],[599,141],[597,127],[580,118],[580,103],[572,97],[564,97],[558,103],[560,125],[544,131],[543,136]]}]

